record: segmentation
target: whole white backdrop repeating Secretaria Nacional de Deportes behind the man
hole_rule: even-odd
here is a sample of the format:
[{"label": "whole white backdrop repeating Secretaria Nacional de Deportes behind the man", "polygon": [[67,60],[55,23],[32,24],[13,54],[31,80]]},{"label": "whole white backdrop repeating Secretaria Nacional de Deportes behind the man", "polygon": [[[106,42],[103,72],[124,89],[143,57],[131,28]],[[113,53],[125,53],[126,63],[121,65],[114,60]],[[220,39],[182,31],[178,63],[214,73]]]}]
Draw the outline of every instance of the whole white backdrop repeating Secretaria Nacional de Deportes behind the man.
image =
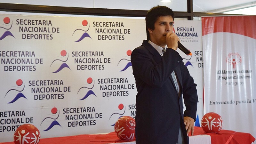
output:
[{"label": "whole white backdrop repeating Secretaria Nacional de Deportes behind the man", "polygon": [[[130,55],[146,39],[145,20],[11,14],[0,20],[1,142],[12,141],[25,123],[49,138],[113,132],[119,117],[135,117]],[[176,23],[194,54],[180,51],[200,96],[201,24]]]}]

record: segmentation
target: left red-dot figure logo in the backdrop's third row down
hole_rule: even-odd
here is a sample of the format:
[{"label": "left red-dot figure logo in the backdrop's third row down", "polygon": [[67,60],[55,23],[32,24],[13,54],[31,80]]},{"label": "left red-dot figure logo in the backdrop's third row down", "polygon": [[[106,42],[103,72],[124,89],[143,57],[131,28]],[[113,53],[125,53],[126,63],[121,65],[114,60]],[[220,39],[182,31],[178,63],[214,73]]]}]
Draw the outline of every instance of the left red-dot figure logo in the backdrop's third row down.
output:
[{"label": "left red-dot figure logo in the backdrop's third row down", "polygon": [[10,87],[10,88],[7,90],[7,92],[5,93],[5,95],[4,95],[4,97],[5,97],[5,96],[6,96],[9,92],[11,92],[11,91],[17,91],[17,92],[19,92],[19,93],[15,96],[15,98],[14,98],[12,101],[8,102],[9,104],[15,102],[16,100],[18,100],[18,99],[20,99],[20,98],[25,98],[26,100],[28,100],[28,99],[25,97],[25,95],[24,95],[23,93],[21,93],[21,92],[24,90],[24,88],[25,88],[25,84],[22,86],[23,81],[22,81],[21,79],[18,79],[18,80],[16,81],[16,84],[17,84],[17,86],[19,86],[19,87],[16,87],[16,86]]}]

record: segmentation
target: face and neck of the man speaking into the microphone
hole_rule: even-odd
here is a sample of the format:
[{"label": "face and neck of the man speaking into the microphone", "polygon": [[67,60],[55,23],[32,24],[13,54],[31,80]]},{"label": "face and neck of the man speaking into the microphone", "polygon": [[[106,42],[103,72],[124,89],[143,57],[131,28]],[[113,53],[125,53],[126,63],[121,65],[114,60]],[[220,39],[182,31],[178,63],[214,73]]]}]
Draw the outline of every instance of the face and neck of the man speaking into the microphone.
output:
[{"label": "face and neck of the man speaking into the microphone", "polygon": [[155,29],[149,29],[150,41],[161,47],[166,45],[166,34],[173,31],[173,18],[172,16],[160,16],[156,20]]}]

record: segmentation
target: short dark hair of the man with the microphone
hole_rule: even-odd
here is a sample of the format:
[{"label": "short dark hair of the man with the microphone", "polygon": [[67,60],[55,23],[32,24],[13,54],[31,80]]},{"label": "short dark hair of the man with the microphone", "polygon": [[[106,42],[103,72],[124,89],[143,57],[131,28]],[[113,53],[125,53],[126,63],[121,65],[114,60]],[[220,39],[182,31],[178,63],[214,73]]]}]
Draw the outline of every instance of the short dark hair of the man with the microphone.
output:
[{"label": "short dark hair of the man with the microphone", "polygon": [[151,8],[146,15],[146,32],[147,32],[147,40],[150,39],[148,28],[154,30],[155,22],[160,16],[172,16],[174,20],[174,12],[172,9],[166,6],[155,6]]}]

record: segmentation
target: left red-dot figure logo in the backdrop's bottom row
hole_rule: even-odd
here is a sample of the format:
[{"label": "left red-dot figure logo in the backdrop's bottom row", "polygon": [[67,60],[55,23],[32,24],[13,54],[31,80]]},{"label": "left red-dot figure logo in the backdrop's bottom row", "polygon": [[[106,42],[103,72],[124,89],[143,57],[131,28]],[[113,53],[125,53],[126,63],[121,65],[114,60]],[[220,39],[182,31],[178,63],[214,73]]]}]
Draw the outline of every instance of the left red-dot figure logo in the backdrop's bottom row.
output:
[{"label": "left red-dot figure logo in the backdrop's bottom row", "polygon": [[[42,120],[41,124],[40,124],[40,125],[42,125],[44,120],[46,120],[46,119],[52,119],[53,120],[52,123],[49,125],[49,127],[44,130],[44,132],[49,131],[54,125],[59,125],[61,127],[60,123],[56,120],[60,116],[60,111],[58,112],[58,109],[54,107],[54,108],[52,108],[51,112],[52,112],[53,115],[46,115],[44,117],[44,119]],[[58,114],[57,114],[57,112],[58,112]]]}]

